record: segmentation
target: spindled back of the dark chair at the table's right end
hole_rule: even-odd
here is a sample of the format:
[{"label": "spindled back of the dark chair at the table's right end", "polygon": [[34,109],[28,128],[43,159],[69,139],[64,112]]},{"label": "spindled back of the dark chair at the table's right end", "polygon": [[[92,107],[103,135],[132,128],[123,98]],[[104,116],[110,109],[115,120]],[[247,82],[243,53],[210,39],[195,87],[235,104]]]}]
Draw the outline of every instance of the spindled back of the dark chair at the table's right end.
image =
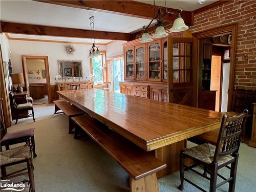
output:
[{"label": "spindled back of the dark chair at the table's right end", "polygon": [[229,118],[227,118],[227,115],[223,115],[214,162],[218,162],[219,157],[238,152],[247,114],[248,110]]}]

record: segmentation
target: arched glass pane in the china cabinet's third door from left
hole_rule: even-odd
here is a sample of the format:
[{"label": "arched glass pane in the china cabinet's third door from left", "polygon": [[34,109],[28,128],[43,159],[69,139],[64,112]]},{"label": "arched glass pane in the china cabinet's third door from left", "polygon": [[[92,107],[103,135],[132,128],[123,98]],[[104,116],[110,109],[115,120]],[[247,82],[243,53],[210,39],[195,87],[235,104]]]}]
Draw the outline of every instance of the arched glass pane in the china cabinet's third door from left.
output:
[{"label": "arched glass pane in the china cabinet's third door from left", "polygon": [[152,81],[160,81],[160,43],[154,43],[148,47],[149,53],[149,74],[148,78]]}]

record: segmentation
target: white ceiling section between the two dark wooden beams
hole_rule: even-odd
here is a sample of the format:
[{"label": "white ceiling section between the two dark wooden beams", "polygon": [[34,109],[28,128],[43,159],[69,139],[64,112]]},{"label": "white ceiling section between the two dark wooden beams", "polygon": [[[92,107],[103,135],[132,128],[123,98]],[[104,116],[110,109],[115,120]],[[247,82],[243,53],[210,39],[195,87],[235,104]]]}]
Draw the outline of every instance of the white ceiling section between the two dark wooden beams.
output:
[{"label": "white ceiling section between the two dark wooden beams", "polygon": [[1,20],[34,25],[90,29],[94,16],[97,31],[132,33],[143,28],[150,20],[111,13],[84,10],[35,1],[0,1]]}]

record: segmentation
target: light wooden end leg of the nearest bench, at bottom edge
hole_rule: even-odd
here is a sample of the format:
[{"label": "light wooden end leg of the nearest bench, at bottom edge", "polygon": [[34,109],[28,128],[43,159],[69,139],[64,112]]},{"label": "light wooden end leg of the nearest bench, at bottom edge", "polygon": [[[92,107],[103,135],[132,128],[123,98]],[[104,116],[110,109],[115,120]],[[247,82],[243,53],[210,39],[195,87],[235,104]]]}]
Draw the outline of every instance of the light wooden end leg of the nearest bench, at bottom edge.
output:
[{"label": "light wooden end leg of the nearest bench, at bottom edge", "polygon": [[131,192],[159,192],[156,173],[138,180],[130,179]]}]

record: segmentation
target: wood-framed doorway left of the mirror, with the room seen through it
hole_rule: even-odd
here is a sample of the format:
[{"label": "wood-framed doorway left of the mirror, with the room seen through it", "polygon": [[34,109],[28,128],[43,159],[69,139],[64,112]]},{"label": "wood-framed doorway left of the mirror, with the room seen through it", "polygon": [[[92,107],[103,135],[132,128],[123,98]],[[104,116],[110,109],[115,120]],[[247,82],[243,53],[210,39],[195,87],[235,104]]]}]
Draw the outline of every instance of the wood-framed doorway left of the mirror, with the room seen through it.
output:
[{"label": "wood-framed doorway left of the mirror, with the room seen through it", "polygon": [[47,56],[22,56],[25,89],[33,104],[51,102],[49,63]]}]

